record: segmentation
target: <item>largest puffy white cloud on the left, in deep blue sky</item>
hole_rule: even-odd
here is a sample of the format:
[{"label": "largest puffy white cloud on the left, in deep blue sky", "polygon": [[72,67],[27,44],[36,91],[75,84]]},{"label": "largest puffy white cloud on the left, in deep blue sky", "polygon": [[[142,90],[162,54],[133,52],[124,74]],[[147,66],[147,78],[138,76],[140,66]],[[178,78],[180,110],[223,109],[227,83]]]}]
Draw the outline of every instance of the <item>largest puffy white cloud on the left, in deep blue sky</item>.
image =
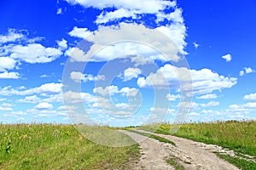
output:
[{"label": "largest puffy white cloud on the left, in deep blue sky", "polygon": [[57,48],[45,48],[39,43],[31,43],[27,46],[15,45],[10,49],[10,58],[21,59],[27,63],[48,63],[57,59],[61,50]]}]

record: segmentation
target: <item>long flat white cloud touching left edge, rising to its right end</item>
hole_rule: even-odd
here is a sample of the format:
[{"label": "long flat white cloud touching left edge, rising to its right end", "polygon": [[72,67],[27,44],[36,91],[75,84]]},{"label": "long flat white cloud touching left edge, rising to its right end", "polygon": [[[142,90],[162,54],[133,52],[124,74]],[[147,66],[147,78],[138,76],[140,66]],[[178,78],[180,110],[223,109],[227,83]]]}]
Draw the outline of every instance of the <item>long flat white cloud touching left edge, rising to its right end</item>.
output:
[{"label": "long flat white cloud touching left edge, rising to its right end", "polygon": [[11,88],[11,86],[7,86],[4,88],[0,88],[0,95],[30,95],[30,94],[40,94],[43,96],[52,95],[52,94],[60,94],[61,93],[62,84],[61,83],[45,83],[37,88],[31,88],[26,90],[16,90]]}]

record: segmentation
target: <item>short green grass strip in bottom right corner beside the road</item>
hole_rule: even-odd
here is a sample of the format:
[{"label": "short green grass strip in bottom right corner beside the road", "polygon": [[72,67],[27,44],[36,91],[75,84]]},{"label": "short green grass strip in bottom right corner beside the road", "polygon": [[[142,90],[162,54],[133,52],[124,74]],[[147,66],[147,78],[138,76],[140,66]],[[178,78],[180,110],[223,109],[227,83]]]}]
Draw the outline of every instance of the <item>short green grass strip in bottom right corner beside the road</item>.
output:
[{"label": "short green grass strip in bottom right corner beside the road", "polygon": [[242,170],[255,170],[256,169],[256,163],[253,163],[251,161],[245,161],[236,157],[227,156],[227,155],[221,155],[218,152],[215,153],[219,157],[223,158],[226,161],[229,161],[230,163],[234,164],[236,167],[239,167]]}]

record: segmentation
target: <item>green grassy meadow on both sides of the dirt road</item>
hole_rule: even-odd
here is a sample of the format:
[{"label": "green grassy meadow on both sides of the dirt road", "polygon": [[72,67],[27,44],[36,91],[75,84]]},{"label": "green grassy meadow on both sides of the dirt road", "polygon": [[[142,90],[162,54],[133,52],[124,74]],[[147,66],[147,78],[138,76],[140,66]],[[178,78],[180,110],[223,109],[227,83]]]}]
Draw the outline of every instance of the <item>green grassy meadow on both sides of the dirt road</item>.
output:
[{"label": "green grassy meadow on both sides of the dirt road", "polygon": [[[131,132],[134,128],[154,131],[155,126],[159,126],[155,133],[170,134],[173,125],[166,123],[125,129]],[[97,128],[84,130],[92,130],[94,135]],[[102,138],[110,139],[109,134],[103,132]],[[112,139],[116,139],[114,135],[120,134],[111,133]],[[238,156],[256,156],[255,121],[188,123],[183,124],[174,135],[206,144],[218,144],[235,150]],[[150,137],[170,143],[156,135]],[[128,136],[119,139],[134,143]],[[241,169],[256,168],[256,163],[252,161],[216,154]],[[138,157],[138,144],[129,147],[95,144],[85,139],[72,125],[0,124],[0,169],[131,169],[131,162],[137,161]],[[172,166],[175,164],[172,160],[168,160],[168,163]]]}]

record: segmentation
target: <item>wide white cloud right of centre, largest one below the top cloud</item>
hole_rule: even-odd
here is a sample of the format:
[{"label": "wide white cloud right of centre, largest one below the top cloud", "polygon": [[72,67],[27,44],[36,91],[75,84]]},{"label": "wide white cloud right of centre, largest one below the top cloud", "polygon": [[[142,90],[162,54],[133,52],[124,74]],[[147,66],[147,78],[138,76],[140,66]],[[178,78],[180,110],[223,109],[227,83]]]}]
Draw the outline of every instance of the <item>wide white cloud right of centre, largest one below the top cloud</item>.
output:
[{"label": "wide white cloud right of centre, largest one below the top cloud", "polygon": [[[191,77],[189,77],[189,75],[191,75]],[[191,78],[192,84],[190,84]],[[186,88],[192,85],[193,94],[209,94],[214,90],[233,87],[236,85],[237,79],[235,77],[220,76],[218,73],[214,73],[209,69],[196,71],[166,64],[160,67],[156,73],[151,73],[146,78],[139,77],[137,79],[137,85],[140,88],[147,88],[151,85],[155,88],[166,88],[166,85],[169,85],[170,88],[178,88],[179,81],[183,82],[183,86]],[[166,82],[168,82],[168,84],[166,84]],[[184,88],[184,90],[186,90],[186,88]]]}]

